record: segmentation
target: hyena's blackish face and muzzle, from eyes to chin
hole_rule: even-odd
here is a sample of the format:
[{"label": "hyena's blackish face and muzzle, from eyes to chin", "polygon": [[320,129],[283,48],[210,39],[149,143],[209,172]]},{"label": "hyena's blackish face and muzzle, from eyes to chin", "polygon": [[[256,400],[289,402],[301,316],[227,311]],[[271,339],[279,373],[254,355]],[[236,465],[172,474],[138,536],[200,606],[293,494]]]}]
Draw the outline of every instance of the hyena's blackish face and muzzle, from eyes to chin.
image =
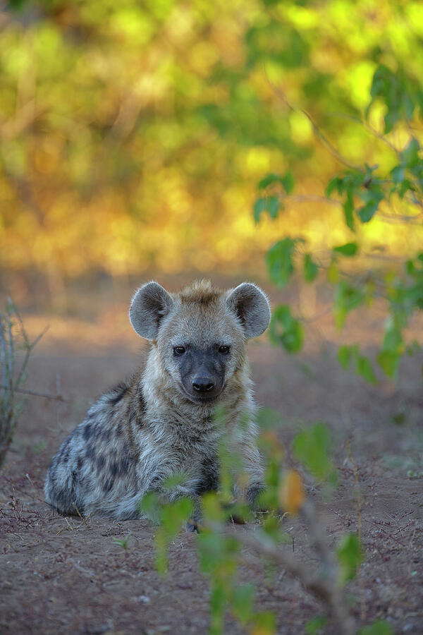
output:
[{"label": "hyena's blackish face and muzzle, from eyes to chin", "polygon": [[210,401],[221,394],[229,354],[228,346],[216,345],[203,351],[191,346],[175,347],[180,380],[192,401]]}]

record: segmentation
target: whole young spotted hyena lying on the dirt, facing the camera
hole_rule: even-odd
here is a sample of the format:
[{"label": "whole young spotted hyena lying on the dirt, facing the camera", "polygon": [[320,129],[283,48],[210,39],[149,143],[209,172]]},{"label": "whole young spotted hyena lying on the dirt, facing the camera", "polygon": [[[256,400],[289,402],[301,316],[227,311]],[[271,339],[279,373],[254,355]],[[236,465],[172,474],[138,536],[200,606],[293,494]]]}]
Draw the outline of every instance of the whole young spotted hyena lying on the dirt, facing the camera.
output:
[{"label": "whole young spotted hyena lying on the dirt, facing the camera", "polygon": [[[151,341],[144,368],[103,394],[61,444],[44,486],[63,514],[141,518],[140,500],[156,491],[197,501],[219,486],[221,406],[243,463],[235,495],[253,504],[262,489],[255,403],[246,341],[269,325],[269,302],[255,284],[221,291],[207,281],[169,294],[157,282],[138,289],[129,311]],[[183,473],[183,485],[163,487]]]}]

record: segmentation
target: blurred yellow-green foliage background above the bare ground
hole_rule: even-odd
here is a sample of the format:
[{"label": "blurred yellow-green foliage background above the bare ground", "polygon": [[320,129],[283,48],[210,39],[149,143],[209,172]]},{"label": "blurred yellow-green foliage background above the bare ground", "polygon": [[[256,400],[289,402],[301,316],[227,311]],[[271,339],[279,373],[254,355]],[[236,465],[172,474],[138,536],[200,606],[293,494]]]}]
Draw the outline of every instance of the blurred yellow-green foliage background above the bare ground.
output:
[{"label": "blurred yellow-green foliage background above the bare ground", "polygon": [[[346,242],[324,200],[342,165],[302,109],[386,173],[376,68],[422,103],[412,0],[13,0],[0,28],[0,272],[53,287],[89,270],[253,272],[288,234],[314,253]],[[388,133],[399,149],[423,140],[415,104]],[[287,170],[285,210],[256,225],[257,182]],[[404,205],[357,229],[364,251],[417,251]]]}]

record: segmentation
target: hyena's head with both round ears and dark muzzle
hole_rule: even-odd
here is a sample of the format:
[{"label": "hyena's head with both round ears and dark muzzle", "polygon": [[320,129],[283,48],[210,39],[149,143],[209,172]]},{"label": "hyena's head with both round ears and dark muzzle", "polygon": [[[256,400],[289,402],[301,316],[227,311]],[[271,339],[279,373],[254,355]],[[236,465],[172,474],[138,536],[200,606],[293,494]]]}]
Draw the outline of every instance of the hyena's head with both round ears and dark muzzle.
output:
[{"label": "hyena's head with both round ears and dark muzzle", "polygon": [[269,301],[255,284],[221,291],[202,280],[178,294],[157,282],[136,292],[130,322],[157,346],[159,361],[173,384],[196,404],[221,394],[243,368],[247,339],[269,325]]}]

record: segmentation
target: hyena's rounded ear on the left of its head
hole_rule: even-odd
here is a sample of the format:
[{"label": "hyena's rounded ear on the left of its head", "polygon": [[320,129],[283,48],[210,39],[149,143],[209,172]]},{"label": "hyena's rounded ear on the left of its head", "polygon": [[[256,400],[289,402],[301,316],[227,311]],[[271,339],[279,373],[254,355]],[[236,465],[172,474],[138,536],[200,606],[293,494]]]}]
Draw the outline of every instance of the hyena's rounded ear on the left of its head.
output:
[{"label": "hyena's rounded ear on the left of its head", "polygon": [[157,282],[147,282],[133,297],[129,319],[135,332],[146,339],[156,339],[162,317],[173,306],[170,294]]}]

